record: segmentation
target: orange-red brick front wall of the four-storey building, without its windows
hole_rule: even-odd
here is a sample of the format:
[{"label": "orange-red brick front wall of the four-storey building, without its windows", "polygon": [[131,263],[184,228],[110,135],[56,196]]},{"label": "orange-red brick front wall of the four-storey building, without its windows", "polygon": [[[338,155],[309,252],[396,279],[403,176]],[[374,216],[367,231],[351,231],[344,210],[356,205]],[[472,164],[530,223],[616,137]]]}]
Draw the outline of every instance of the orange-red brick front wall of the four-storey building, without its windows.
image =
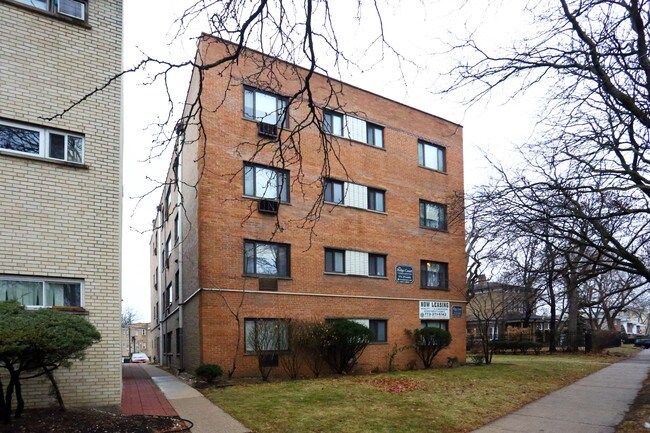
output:
[{"label": "orange-red brick front wall of the four-storey building, without its windows", "polygon": [[[223,55],[223,45],[206,39],[200,52],[204,60],[210,61]],[[300,181],[297,180],[298,166],[285,166],[291,174],[291,204],[281,205],[277,219],[259,214],[257,203],[243,197],[241,169],[244,161],[279,166],[277,161],[272,161],[271,148],[263,149],[253,158],[259,137],[255,122],[243,118],[241,80],[256,70],[258,55],[248,55],[250,57],[242,59],[236,68],[221,74],[215,69],[208,71],[203,82],[205,158],[199,164],[205,164],[205,170],[199,186],[198,242],[195,251],[184,248],[184,255],[193,255],[194,261],[198,260],[199,287],[257,291],[257,279],[242,276],[243,241],[269,240],[277,224],[281,230],[274,235],[273,241],[291,245],[291,279],[279,281],[280,292],[412,299],[245,295],[242,318],[388,319],[388,343],[371,346],[362,359],[362,367],[366,369],[385,368],[388,349],[393,344],[405,344],[404,329],[420,324],[418,300],[444,299],[464,305],[464,221],[454,220],[447,232],[423,229],[419,227],[418,207],[419,199],[449,203],[454,194],[462,193],[462,129],[438,117],[343,85],[340,100],[344,102],[345,111],[356,112],[359,117],[382,125],[385,147],[378,149],[346,139],[334,139],[333,147],[341,164],[332,163],[330,176],[386,190],[386,213],[325,204],[311,233],[300,226],[321,192],[323,153],[319,151],[321,141],[315,128],[303,131],[300,137],[303,173]],[[291,79],[293,73],[285,72],[284,78],[280,78],[283,94],[291,94],[297,89],[295,80]],[[314,84],[316,89],[320,89],[315,93],[316,99],[325,101],[325,78],[314,77]],[[291,107],[291,115],[302,117],[305,110],[305,104],[296,104]],[[418,139],[445,147],[446,173],[418,167]],[[387,278],[325,275],[324,247],[386,254]],[[420,289],[422,259],[449,264],[449,290]],[[397,264],[413,266],[413,284],[395,282]],[[185,292],[191,293],[188,287],[185,287]],[[223,293],[223,296],[217,292],[203,293],[200,331],[185,329],[186,338],[200,338],[203,363],[217,362],[227,367],[232,359],[235,322],[223,303],[228,300],[236,307],[238,303],[234,296],[232,293]],[[464,314],[463,318],[451,319],[449,323],[454,342],[439,355],[438,360],[446,361],[447,356],[458,356],[463,360]],[[402,352],[397,362],[404,366],[409,358],[414,357],[413,353]],[[238,373],[255,374],[253,358],[242,356]]]}]

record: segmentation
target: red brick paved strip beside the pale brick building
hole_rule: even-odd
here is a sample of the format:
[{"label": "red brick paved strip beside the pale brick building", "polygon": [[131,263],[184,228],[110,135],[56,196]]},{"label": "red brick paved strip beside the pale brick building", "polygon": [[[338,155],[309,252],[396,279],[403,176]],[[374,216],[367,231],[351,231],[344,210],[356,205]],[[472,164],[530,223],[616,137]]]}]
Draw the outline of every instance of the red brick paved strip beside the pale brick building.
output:
[{"label": "red brick paved strip beside the pale brick building", "polygon": [[122,365],[122,385],[122,415],[178,416],[141,365]]}]

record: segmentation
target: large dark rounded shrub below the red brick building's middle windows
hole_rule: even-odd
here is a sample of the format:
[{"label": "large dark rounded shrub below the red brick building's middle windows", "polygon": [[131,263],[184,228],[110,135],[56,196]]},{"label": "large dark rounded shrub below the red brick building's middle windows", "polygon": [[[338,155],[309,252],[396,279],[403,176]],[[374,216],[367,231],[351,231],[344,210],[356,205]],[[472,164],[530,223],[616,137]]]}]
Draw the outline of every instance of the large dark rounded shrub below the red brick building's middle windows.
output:
[{"label": "large dark rounded shrub below the red brick building's middle windows", "polygon": [[327,325],[329,332],[324,342],[327,363],[339,374],[350,373],[372,340],[372,331],[346,319],[333,320]]}]

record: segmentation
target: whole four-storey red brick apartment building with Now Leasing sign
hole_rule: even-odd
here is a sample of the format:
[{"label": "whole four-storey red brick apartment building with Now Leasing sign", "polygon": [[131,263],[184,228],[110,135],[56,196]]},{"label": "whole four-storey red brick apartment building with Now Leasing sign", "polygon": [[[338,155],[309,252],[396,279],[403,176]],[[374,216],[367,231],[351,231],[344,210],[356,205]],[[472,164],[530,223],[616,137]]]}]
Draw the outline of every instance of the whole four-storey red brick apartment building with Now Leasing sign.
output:
[{"label": "whole four-storey red brick apartment building with Now Leasing sign", "polygon": [[[204,35],[197,59],[231,49]],[[270,62],[282,73],[260,75]],[[255,375],[250,336],[263,320],[332,318],[373,331],[360,370],[385,370],[390,349],[408,343],[404,330],[421,326],[452,333],[438,362],[464,360],[464,229],[446,215],[463,191],[462,128],[344,83],[333,85],[335,106],[328,79],[315,75],[317,116],[342,163],[321,175],[321,135],[311,125],[300,134],[299,172],[273,157],[277,140],[258,144],[286,138],[305,117],[306,104],[287,101],[306,70],[252,50],[217,69],[192,77],[182,151],[154,220],[156,361],[191,371],[229,368],[235,357],[236,375]],[[191,104],[199,86],[200,113]],[[310,236],[301,222],[323,199]],[[395,362],[415,358],[402,351]]]}]

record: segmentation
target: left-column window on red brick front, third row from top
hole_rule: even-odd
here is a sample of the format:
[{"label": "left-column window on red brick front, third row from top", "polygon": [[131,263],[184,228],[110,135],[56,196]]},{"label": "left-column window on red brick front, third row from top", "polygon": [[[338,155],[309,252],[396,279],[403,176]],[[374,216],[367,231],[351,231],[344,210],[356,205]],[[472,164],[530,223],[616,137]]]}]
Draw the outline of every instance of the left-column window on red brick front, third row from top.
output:
[{"label": "left-column window on red brick front, third row from top", "polygon": [[271,242],[244,242],[244,273],[272,277],[289,276],[289,245]]}]

